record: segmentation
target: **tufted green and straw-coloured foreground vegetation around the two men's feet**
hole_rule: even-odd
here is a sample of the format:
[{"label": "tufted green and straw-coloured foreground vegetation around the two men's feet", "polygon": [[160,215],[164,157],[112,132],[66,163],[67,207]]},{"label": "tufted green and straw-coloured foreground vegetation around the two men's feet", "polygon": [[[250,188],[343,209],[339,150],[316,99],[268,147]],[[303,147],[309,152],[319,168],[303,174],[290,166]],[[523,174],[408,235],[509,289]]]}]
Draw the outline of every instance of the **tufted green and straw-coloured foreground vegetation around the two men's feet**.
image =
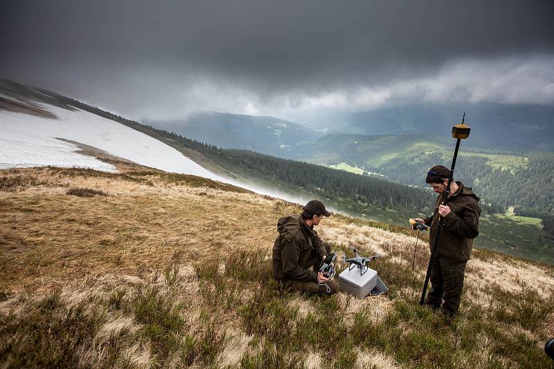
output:
[{"label": "tufted green and straw-coloured foreground vegetation around the two men's feet", "polygon": [[[322,368],[354,368],[371,363],[361,352],[376,352],[376,362],[399,368],[553,367],[540,347],[551,334],[552,296],[491,285],[492,307],[466,299],[449,320],[402,292],[419,287],[406,285],[415,275],[409,268],[386,259],[376,267],[386,271],[391,294],[364,300],[283,290],[267,254],[245,250],[145,278],[111,276],[42,297],[22,294],[0,306],[0,357],[8,367],[206,368],[312,368],[309,359],[320,357]],[[379,299],[390,303],[375,321],[370,306]],[[310,308],[301,312],[298,301]],[[360,302],[368,305],[356,308]]]}]

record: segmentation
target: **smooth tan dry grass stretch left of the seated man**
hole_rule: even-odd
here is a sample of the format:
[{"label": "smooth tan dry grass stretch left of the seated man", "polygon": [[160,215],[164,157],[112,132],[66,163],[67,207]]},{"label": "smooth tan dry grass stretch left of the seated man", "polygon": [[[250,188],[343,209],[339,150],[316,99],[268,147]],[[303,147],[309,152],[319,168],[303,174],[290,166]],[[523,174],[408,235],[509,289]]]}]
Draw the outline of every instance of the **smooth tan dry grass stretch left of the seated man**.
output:
[{"label": "smooth tan dry grass stretch left of the seated man", "polygon": [[[17,172],[45,176],[44,169]],[[276,204],[270,200],[110,177],[55,175],[48,186],[0,192],[0,289],[50,290],[87,274],[137,274],[241,247],[267,250],[272,243],[275,221],[267,212]],[[66,194],[67,184],[110,196],[75,198]]]}]

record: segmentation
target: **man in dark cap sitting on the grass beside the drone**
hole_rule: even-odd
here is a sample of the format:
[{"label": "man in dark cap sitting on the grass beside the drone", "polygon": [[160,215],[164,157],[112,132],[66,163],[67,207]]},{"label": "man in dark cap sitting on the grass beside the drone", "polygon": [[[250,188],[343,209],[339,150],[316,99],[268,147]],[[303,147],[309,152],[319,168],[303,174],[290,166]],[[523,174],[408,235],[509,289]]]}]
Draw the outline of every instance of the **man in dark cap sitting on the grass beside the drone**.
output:
[{"label": "man in dark cap sitting on the grass beside the drone", "polygon": [[[286,287],[313,294],[334,294],[339,285],[319,272],[319,265],[331,252],[323,243],[314,225],[323,216],[330,216],[323,203],[311,200],[298,216],[284,216],[277,222],[277,236],[273,246],[273,276]],[[310,270],[314,267],[314,270]]]}]

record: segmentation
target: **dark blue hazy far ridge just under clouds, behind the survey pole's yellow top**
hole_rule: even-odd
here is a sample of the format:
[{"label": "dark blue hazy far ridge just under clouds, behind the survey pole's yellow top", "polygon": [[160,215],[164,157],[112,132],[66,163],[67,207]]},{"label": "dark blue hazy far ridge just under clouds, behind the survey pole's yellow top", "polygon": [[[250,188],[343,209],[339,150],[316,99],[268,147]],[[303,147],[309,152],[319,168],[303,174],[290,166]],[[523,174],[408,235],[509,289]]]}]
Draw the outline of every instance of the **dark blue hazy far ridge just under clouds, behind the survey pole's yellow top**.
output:
[{"label": "dark blue hazy far ridge just under clouds, behind the survey pole's yellow top", "polygon": [[[554,106],[530,104],[411,104],[375,111],[335,113],[316,126],[361,135],[424,133],[448,135],[454,124],[472,127],[468,146],[519,151],[554,151]],[[309,124],[309,123],[308,123]]]}]

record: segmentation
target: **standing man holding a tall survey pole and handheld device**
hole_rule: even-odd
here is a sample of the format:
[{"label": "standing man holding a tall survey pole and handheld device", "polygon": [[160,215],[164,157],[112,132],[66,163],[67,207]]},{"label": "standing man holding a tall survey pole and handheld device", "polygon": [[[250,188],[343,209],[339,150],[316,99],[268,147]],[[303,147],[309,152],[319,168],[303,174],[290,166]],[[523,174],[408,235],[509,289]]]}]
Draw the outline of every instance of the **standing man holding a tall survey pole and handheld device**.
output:
[{"label": "standing man holding a tall survey pole and handheld device", "polygon": [[464,187],[461,182],[454,182],[454,178],[447,203],[442,205],[449,175],[450,171],[442,165],[436,165],[427,172],[425,182],[433,187],[433,191],[439,196],[431,217],[414,220],[431,227],[429,245],[432,247],[438,218],[444,218],[436,258],[431,269],[431,290],[427,294],[425,305],[436,310],[440,308],[444,314],[454,316],[460,308],[465,264],[472,255],[473,239],[479,235],[481,208],[479,198],[472,189]]}]

